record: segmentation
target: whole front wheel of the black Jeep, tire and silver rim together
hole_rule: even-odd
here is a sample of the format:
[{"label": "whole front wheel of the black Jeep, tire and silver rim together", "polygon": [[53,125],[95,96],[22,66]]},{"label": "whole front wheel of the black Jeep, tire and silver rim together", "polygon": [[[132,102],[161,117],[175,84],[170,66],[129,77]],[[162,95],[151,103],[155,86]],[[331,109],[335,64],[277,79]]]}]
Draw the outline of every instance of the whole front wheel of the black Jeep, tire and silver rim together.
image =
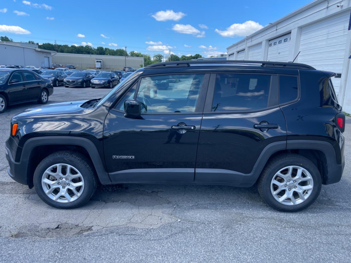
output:
[{"label": "whole front wheel of the black Jeep, tire and silver rim together", "polygon": [[38,196],[55,208],[85,204],[97,188],[91,161],[73,151],[58,151],[42,160],[34,172]]}]

